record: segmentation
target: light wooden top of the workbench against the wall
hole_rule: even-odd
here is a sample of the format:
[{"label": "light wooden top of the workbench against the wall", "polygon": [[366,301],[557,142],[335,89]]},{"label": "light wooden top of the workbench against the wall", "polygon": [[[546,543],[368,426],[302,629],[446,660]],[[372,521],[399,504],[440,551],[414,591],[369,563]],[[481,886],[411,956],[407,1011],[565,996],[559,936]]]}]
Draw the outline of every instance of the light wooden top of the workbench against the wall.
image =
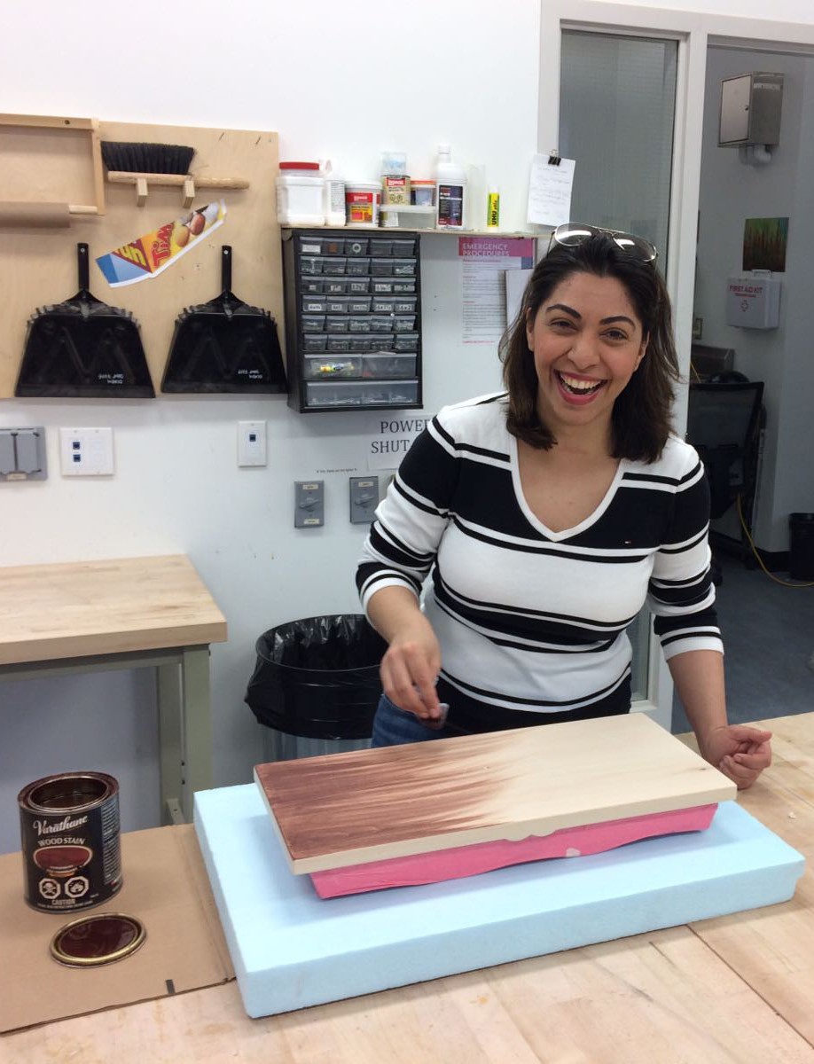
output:
[{"label": "light wooden top of the workbench against the wall", "polygon": [[183,554],[0,567],[0,665],[222,643]]}]

